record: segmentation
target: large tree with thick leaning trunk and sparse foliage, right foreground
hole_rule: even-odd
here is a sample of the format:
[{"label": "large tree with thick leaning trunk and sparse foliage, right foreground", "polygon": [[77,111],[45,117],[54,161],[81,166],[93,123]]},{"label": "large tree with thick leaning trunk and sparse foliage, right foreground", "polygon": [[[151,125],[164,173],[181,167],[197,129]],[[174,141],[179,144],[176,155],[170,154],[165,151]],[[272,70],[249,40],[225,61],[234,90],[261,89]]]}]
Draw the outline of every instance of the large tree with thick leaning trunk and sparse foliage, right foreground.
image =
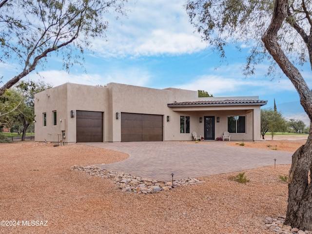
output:
[{"label": "large tree with thick leaning trunk and sparse foliage, right foreground", "polygon": [[[187,0],[190,22],[202,39],[226,58],[229,43],[251,46],[244,69],[254,74],[256,65],[269,59],[268,74],[278,66],[299,94],[312,120],[312,90],[297,68],[312,67],[312,2],[308,0]],[[271,19],[271,20],[270,20]],[[312,121],[311,121],[312,122]],[[312,128],[305,145],[292,156],[285,224],[312,230]]]}]

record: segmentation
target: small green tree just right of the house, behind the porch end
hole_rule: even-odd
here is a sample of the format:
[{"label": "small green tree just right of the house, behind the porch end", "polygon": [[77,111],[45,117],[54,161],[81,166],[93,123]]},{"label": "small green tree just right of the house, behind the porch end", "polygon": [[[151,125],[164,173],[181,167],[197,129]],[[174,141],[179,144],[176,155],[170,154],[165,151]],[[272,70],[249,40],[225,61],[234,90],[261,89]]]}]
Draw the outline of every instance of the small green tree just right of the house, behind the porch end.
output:
[{"label": "small green tree just right of the house, behind the porch end", "polygon": [[278,111],[270,109],[261,109],[261,136],[271,132],[272,138],[276,132],[285,132],[286,120]]}]

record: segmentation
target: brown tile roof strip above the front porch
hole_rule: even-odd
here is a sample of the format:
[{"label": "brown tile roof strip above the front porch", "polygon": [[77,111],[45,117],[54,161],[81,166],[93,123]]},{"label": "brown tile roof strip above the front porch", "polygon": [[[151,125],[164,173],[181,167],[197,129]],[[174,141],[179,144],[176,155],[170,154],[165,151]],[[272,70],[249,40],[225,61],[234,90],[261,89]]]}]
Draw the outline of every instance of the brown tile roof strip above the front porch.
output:
[{"label": "brown tile roof strip above the front porch", "polygon": [[241,106],[241,105],[266,105],[265,100],[253,99],[226,99],[226,100],[205,100],[205,101],[185,101],[169,103],[168,107],[177,106]]}]

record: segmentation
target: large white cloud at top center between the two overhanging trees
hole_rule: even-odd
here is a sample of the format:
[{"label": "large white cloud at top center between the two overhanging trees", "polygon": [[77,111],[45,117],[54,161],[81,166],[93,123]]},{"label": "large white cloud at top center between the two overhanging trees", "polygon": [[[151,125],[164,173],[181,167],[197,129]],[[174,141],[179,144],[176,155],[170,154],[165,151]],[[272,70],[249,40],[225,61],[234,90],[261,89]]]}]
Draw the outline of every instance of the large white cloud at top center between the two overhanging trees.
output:
[{"label": "large white cloud at top center between the two overhanging trees", "polygon": [[137,0],[127,4],[127,18],[110,20],[107,41],[97,39],[93,48],[104,57],[180,55],[204,49],[194,33],[180,0]]}]

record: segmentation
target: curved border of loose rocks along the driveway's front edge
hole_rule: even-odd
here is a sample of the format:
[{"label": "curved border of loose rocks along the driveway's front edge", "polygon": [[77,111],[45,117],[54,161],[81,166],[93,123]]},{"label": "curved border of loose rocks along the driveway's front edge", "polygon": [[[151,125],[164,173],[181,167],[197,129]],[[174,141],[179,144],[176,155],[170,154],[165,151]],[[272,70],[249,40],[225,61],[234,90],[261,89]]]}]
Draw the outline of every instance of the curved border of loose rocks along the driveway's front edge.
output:
[{"label": "curved border of loose rocks along the driveway's front edge", "polygon": [[114,183],[116,183],[118,188],[123,192],[134,192],[138,194],[153,194],[160,191],[168,191],[179,186],[202,183],[199,179],[186,178],[174,180],[174,184],[172,184],[172,181],[157,181],[140,176],[132,176],[126,173],[100,169],[93,166],[82,167],[74,165],[71,167],[71,170],[86,172],[90,176],[114,179]]}]

